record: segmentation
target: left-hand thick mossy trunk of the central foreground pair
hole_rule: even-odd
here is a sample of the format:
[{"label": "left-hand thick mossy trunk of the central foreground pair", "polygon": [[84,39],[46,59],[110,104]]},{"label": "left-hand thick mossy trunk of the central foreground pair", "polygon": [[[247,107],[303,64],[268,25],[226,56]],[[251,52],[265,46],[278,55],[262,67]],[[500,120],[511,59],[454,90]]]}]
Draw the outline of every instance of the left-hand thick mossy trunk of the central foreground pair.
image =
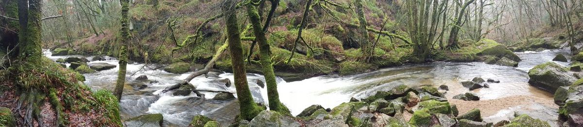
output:
[{"label": "left-hand thick mossy trunk of the central foreground pair", "polygon": [[235,88],[237,90],[237,99],[239,99],[240,118],[251,120],[261,108],[255,104],[251,96],[251,90],[247,85],[247,72],[243,63],[243,45],[241,45],[241,32],[237,23],[236,2],[225,0],[222,10],[225,14],[225,24],[227,26],[227,38],[229,39],[229,50],[231,52],[231,64],[233,64],[233,74],[235,78]]}]

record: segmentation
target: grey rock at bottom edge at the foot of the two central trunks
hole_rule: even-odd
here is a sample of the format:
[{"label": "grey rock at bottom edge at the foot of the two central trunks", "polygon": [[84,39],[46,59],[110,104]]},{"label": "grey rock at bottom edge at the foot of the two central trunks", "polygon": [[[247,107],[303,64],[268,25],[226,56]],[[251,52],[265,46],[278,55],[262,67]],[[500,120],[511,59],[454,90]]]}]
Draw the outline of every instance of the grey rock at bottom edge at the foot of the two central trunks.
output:
[{"label": "grey rock at bottom edge at the foot of the two central trunks", "polygon": [[249,126],[300,126],[300,123],[276,111],[261,111],[249,122]]}]

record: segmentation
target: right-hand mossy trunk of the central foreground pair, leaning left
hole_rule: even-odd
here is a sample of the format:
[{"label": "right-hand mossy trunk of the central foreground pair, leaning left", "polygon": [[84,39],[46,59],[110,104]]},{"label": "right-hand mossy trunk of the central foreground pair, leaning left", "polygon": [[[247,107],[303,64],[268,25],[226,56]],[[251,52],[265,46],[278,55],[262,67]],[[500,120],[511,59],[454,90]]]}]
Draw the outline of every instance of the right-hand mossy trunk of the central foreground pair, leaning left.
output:
[{"label": "right-hand mossy trunk of the central foreground pair, leaning left", "polygon": [[[255,2],[257,2],[257,0]],[[269,49],[269,43],[267,43],[265,32],[261,27],[261,18],[259,17],[258,10],[254,5],[249,4],[247,6],[247,14],[253,26],[255,41],[259,43],[259,59],[261,60],[263,74],[267,83],[269,110],[291,115],[289,109],[279,101],[278,82],[276,81],[275,73],[273,72],[271,50]]]}]

